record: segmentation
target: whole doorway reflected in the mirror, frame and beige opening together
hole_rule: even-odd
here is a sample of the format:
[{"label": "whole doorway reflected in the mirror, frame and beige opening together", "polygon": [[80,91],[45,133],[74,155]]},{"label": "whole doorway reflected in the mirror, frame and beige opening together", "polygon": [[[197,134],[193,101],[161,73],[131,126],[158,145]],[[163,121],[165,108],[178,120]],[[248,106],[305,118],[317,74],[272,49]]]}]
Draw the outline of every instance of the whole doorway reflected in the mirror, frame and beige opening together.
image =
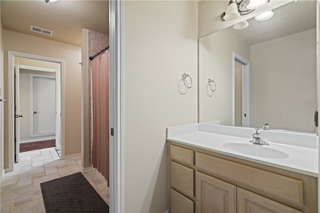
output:
[{"label": "whole doorway reflected in the mirror, frame and beige opening together", "polygon": [[232,52],[232,124],[250,126],[250,61]]}]

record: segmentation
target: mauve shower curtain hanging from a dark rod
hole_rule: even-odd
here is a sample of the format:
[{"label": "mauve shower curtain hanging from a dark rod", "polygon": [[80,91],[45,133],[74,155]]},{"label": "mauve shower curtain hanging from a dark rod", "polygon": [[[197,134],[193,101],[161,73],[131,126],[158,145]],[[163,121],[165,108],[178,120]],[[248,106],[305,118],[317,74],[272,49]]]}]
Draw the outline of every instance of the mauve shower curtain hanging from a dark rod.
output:
[{"label": "mauve shower curtain hanging from a dark rod", "polygon": [[92,60],[93,167],[109,186],[109,50]]}]

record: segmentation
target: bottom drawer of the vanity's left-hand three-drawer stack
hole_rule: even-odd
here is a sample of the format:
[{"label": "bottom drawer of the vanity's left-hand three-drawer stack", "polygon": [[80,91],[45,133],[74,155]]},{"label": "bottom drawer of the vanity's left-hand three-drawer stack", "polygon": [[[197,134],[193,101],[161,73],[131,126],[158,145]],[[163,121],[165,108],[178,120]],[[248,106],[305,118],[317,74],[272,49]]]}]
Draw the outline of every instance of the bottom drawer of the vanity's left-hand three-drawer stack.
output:
[{"label": "bottom drawer of the vanity's left-hand three-drawer stack", "polygon": [[170,188],[170,212],[171,213],[193,213],[194,203],[176,190]]}]

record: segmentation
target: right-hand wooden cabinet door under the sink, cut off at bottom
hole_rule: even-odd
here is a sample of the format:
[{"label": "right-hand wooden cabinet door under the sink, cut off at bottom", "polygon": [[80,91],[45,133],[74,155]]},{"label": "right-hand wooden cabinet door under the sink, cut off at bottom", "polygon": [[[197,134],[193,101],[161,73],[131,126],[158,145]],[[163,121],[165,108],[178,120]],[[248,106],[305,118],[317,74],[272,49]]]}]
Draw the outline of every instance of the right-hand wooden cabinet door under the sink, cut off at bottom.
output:
[{"label": "right-hand wooden cabinet door under the sink, cut off at bottom", "polygon": [[281,203],[275,202],[258,194],[237,188],[237,209],[238,213],[255,213],[255,212],[301,212],[294,208],[288,207]]}]

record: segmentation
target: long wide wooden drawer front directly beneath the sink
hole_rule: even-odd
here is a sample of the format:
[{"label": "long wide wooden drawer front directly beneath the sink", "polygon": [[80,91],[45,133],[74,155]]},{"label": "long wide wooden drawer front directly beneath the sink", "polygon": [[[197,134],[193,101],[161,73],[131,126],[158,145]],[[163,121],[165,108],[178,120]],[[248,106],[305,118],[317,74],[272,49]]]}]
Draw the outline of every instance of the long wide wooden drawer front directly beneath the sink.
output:
[{"label": "long wide wooden drawer front directly beneath the sink", "polygon": [[232,183],[245,185],[274,197],[303,205],[302,181],[250,167],[200,152],[195,153],[195,165]]}]

